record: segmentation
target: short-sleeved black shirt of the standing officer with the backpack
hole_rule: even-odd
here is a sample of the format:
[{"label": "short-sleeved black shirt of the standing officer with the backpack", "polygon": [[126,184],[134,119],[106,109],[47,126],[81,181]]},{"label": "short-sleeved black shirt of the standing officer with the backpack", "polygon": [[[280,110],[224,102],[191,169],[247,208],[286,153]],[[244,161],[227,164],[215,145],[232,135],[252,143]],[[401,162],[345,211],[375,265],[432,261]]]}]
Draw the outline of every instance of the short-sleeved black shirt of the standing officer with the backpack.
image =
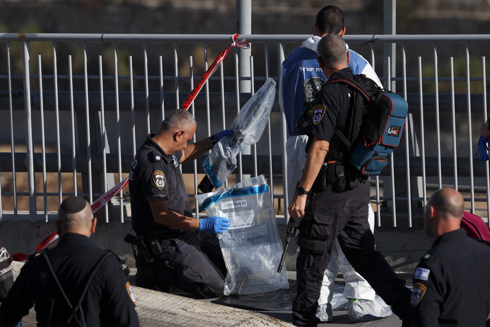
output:
[{"label": "short-sleeved black shirt of the standing officer with the backpack", "polygon": [[[347,67],[340,72],[335,72],[329,79],[344,74],[354,78],[352,71]],[[347,117],[349,104],[349,90],[346,86],[340,83],[325,84],[321,88],[313,107],[312,124],[308,128],[308,133],[330,142],[338,122],[344,121]]]}]

